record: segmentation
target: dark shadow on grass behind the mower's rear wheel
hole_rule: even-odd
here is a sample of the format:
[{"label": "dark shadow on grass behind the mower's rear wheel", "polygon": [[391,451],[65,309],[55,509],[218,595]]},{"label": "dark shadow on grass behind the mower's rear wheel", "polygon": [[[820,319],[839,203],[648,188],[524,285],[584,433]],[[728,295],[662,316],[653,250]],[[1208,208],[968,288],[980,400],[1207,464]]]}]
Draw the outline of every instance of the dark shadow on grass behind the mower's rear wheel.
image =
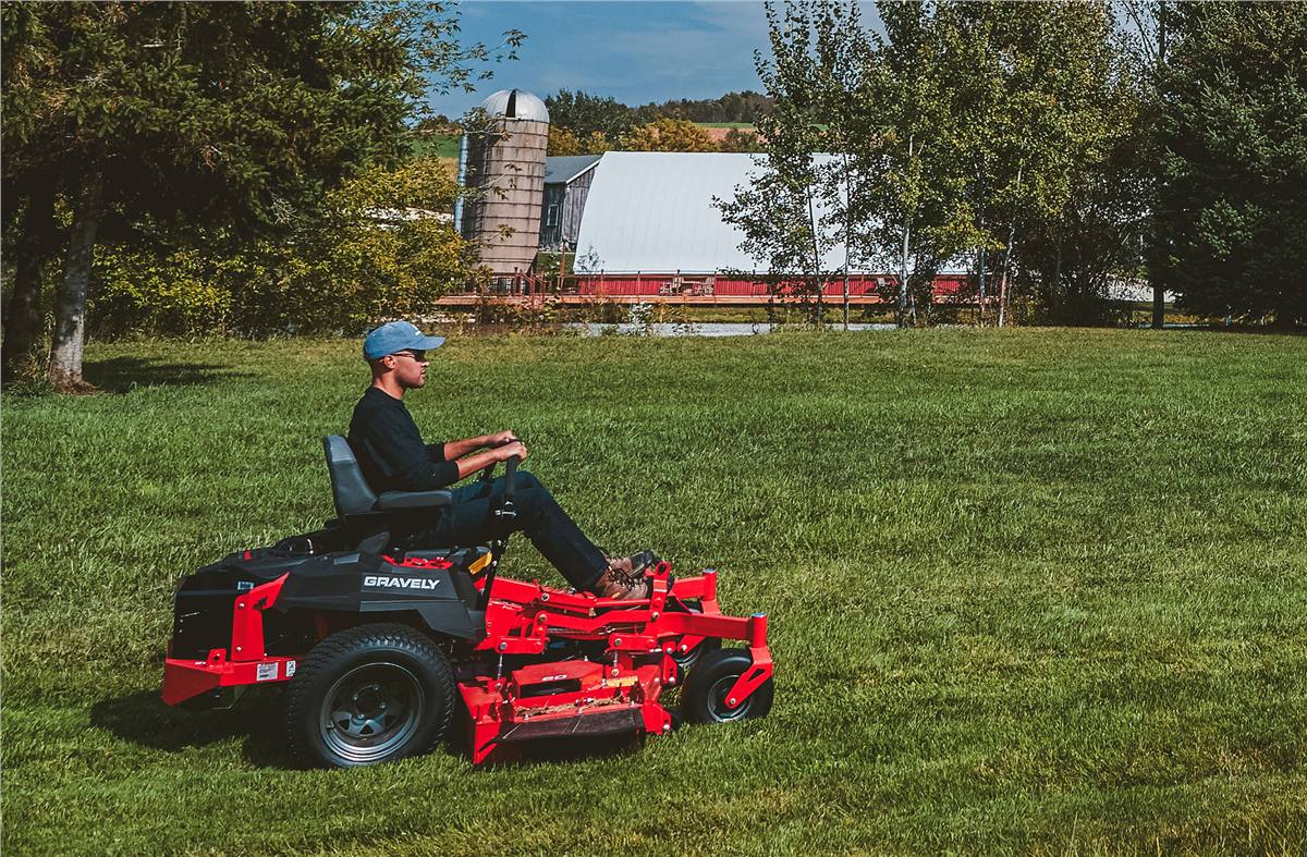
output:
[{"label": "dark shadow on grass behind the mower's rear wheel", "polygon": [[90,709],[93,725],[124,741],[183,752],[243,737],[242,755],[260,768],[290,768],[281,737],[281,694],[254,690],[225,711],[186,711],[165,705],[157,690],[102,699]]}]

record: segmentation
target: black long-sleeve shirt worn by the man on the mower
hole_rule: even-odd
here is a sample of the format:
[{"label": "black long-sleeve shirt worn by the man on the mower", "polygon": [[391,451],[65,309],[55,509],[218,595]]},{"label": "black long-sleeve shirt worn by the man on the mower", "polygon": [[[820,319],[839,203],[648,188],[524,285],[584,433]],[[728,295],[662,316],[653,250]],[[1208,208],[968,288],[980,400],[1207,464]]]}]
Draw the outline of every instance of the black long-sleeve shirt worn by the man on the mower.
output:
[{"label": "black long-sleeve shirt worn by the man on the mower", "polygon": [[422,443],[404,402],[369,387],[349,421],[349,445],[374,491],[430,491],[459,481],[457,461],[443,443]]}]

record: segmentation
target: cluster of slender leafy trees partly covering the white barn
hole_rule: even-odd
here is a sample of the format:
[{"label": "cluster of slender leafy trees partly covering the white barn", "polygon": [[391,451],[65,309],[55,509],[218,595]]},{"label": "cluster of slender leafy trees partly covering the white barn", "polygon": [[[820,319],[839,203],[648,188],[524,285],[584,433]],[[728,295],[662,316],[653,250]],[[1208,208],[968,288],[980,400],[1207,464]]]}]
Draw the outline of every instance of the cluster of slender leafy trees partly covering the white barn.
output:
[{"label": "cluster of slender leafy trees partly covering the white barn", "polygon": [[759,76],[774,108],[758,127],[782,184],[805,188],[823,216],[796,230],[775,179],[758,175],[728,219],[795,242],[792,259],[806,247],[818,260],[812,246],[834,240],[853,269],[894,272],[901,323],[929,311],[945,265],[970,264],[976,290],[1001,295],[1000,319],[1017,283],[1052,302],[1067,282],[1106,293],[1137,263],[1127,248],[1141,218],[1138,195],[1123,191],[1138,152],[1136,81],[1108,12],[916,1],[881,4],[880,17],[876,33],[856,3],[769,7]]}]

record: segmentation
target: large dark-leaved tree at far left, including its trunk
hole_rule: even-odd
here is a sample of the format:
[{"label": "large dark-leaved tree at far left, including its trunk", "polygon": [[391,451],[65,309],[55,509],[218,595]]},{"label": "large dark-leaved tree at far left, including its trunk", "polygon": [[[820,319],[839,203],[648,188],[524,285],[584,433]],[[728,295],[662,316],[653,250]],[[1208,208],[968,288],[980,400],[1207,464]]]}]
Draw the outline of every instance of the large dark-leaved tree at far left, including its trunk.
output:
[{"label": "large dark-leaved tree at far left, including its trunk", "polygon": [[[294,231],[331,188],[401,159],[431,86],[471,86],[488,54],[456,29],[439,4],[5,4],[7,226],[64,256],[51,379],[80,384],[101,239]],[[37,338],[39,293],[18,265],[7,368]]]}]

